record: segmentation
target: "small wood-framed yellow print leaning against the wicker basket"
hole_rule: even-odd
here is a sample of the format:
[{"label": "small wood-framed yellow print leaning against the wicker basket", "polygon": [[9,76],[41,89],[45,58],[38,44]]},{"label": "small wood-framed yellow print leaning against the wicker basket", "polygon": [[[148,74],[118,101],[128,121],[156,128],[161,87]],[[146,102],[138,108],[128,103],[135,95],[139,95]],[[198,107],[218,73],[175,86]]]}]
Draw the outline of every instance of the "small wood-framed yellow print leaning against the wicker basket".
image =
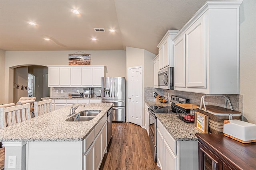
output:
[{"label": "small wood-framed yellow print leaning against the wicker basket", "polygon": [[208,123],[208,116],[197,111],[195,112],[195,128],[198,129],[198,131],[202,133],[208,133]]}]

